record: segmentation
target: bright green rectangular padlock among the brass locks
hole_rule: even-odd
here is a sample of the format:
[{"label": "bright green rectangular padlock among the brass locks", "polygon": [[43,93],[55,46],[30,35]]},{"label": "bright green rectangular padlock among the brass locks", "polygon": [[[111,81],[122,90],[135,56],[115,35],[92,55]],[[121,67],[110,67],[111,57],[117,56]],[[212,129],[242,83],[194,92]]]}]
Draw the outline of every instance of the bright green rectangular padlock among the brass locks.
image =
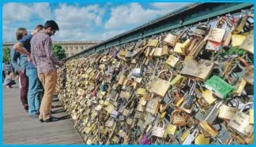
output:
[{"label": "bright green rectangular padlock among the brass locks", "polygon": [[216,75],[213,75],[210,79],[205,81],[205,87],[222,99],[226,98],[233,89],[231,85]]}]

